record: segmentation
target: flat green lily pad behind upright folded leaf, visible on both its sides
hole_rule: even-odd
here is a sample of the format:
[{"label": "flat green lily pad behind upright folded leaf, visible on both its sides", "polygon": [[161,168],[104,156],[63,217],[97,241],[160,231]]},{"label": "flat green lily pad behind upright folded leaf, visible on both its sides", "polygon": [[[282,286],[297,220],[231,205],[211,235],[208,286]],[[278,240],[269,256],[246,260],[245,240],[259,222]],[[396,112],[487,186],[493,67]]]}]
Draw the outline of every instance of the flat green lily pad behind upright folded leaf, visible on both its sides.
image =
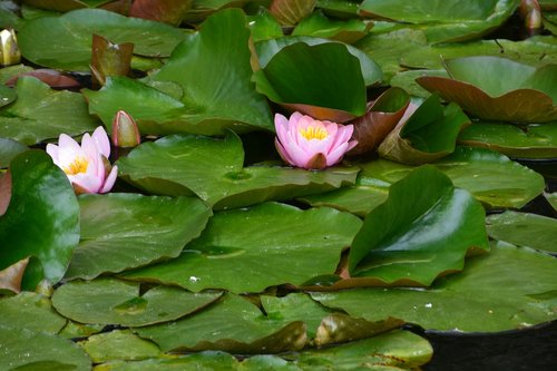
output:
[{"label": "flat green lily pad behind upright folded leaf, visible on both its sides", "polygon": [[[520,208],[544,192],[544,177],[496,152],[457,147],[455,153],[436,162],[452,183],[470,192],[488,208]],[[364,216],[380,205],[389,186],[414,167],[385,159],[360,164],[356,184],[324,194],[304,196],[313,206],[331,206]]]}]

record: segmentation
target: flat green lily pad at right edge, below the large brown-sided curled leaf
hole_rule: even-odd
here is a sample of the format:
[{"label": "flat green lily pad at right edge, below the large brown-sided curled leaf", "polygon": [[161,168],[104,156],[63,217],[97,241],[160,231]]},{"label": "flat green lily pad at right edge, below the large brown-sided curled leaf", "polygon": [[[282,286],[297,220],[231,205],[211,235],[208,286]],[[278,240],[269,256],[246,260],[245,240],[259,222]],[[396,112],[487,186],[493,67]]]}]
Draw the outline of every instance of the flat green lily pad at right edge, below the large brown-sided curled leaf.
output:
[{"label": "flat green lily pad at right edge, below the large brown-sided curled leaf", "polygon": [[505,123],[473,123],[460,133],[465,146],[485,147],[519,158],[556,158],[557,121],[518,126]]}]

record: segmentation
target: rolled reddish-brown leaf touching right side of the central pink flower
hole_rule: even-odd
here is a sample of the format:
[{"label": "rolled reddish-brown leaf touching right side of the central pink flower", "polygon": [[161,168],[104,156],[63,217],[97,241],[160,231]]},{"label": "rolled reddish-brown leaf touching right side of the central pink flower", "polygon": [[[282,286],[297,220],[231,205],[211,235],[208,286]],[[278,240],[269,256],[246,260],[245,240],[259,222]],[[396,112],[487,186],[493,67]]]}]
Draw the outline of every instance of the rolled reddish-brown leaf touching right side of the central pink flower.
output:
[{"label": "rolled reddish-brown leaf touching right side of the central pink flower", "polygon": [[350,155],[375,149],[397,126],[409,104],[409,95],[400,88],[390,88],[368,104],[368,113],[351,123],[354,125],[352,137],[358,140],[358,145]]}]

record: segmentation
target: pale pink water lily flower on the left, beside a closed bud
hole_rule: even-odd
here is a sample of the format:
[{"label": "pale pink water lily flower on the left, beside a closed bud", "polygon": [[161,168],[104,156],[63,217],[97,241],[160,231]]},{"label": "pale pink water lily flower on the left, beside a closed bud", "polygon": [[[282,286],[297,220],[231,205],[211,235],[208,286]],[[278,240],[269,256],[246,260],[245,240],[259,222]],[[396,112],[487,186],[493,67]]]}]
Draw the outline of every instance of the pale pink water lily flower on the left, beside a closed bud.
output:
[{"label": "pale pink water lily flower on the left, beside a closed bud", "polygon": [[47,145],[47,153],[74,185],[76,193],[107,193],[113,188],[118,166],[110,166],[110,143],[99,126],[92,135],[85,134],[79,145],[74,138],[60,134],[58,146]]}]

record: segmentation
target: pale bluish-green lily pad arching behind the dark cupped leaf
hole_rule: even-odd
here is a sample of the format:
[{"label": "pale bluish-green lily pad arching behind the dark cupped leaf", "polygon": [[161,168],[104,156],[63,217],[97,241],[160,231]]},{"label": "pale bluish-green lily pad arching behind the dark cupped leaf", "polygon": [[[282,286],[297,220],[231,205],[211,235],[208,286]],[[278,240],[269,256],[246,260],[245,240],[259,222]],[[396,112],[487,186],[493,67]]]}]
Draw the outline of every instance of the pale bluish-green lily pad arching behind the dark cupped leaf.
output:
[{"label": "pale bluish-green lily pad arching behind the dark cupped leaf", "polygon": [[[336,41],[331,41],[329,39],[322,39],[310,36],[287,36],[271,40],[264,40],[255,43],[255,50],[257,51],[257,60],[262,68],[265,68],[271,59],[281,51],[283,48],[289,47],[294,43],[303,42],[309,45],[310,47],[322,45],[322,43],[332,43]],[[360,61],[360,69],[362,71],[363,80],[365,81],[365,86],[371,86],[380,82],[383,78],[383,74],[381,72],[381,68],[368,57],[365,52],[362,50],[354,48],[348,43],[343,45],[346,50],[358,58]]]}]

